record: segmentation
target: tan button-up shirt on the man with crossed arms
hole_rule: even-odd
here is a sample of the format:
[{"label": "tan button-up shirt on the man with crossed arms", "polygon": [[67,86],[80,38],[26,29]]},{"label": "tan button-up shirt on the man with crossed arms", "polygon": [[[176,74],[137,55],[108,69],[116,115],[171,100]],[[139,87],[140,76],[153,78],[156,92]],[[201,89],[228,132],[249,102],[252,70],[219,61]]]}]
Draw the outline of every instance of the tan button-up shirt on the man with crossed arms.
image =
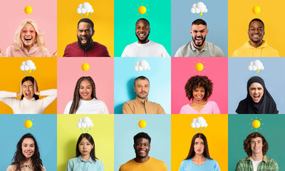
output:
[{"label": "tan button-up shirt on the man with crossed arms", "polygon": [[158,103],[153,103],[147,98],[135,98],[123,105],[123,114],[165,114],[165,110]]}]

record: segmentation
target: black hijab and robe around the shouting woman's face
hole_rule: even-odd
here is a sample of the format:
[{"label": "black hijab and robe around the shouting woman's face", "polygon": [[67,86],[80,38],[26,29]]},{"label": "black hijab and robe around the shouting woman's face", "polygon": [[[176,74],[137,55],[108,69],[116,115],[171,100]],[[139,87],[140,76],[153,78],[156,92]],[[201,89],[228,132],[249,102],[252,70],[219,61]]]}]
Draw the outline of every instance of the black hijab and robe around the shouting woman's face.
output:
[{"label": "black hijab and robe around the shouting woman's face", "polygon": [[[249,95],[249,86],[252,83],[260,83],[264,89],[264,93],[258,103],[255,103],[252,100],[252,97]],[[247,81],[247,98],[239,102],[236,113],[238,114],[278,114],[279,111],[276,108],[276,103],[273,98],[266,90],[264,81],[258,76],[249,78]]]}]

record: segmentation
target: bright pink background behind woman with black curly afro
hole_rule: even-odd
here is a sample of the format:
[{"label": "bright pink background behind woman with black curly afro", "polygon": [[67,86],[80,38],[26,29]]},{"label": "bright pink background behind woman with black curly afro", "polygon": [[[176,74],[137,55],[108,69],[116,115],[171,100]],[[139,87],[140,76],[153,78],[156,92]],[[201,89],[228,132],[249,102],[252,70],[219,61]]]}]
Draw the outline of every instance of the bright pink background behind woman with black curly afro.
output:
[{"label": "bright pink background behind woman with black curly afro", "polygon": [[[203,63],[203,71],[196,71],[195,64]],[[171,113],[179,114],[183,105],[190,101],[185,94],[185,84],[192,76],[207,76],[214,88],[208,100],[215,101],[222,114],[227,114],[227,58],[172,58],[171,59]],[[194,72],[196,71],[196,72]],[[200,73],[200,74],[198,74]]]}]

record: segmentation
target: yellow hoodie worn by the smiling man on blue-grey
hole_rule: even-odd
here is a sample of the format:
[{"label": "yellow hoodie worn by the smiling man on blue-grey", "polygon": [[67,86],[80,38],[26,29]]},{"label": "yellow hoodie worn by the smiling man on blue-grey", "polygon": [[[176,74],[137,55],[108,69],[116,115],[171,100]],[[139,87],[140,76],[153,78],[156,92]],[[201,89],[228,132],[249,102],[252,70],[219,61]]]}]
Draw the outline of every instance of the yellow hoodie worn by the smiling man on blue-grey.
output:
[{"label": "yellow hoodie worn by the smiling man on blue-grey", "polygon": [[274,48],[268,46],[266,41],[262,41],[261,46],[258,48],[254,48],[247,41],[244,46],[234,51],[232,57],[279,57],[279,53]]}]

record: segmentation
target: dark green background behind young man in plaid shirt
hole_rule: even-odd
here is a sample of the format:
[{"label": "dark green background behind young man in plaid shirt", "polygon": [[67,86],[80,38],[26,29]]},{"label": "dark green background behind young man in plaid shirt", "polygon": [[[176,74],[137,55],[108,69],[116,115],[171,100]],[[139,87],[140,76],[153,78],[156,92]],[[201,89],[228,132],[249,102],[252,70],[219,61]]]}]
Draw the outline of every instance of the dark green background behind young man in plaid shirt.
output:
[{"label": "dark green background behind young man in plaid shirt", "polygon": [[[260,123],[264,125],[251,129],[249,123],[256,119],[261,119]],[[235,170],[237,162],[247,157],[244,140],[256,130],[269,144],[266,156],[278,163],[279,170],[285,170],[284,120],[285,115],[229,115],[229,170]]]}]

